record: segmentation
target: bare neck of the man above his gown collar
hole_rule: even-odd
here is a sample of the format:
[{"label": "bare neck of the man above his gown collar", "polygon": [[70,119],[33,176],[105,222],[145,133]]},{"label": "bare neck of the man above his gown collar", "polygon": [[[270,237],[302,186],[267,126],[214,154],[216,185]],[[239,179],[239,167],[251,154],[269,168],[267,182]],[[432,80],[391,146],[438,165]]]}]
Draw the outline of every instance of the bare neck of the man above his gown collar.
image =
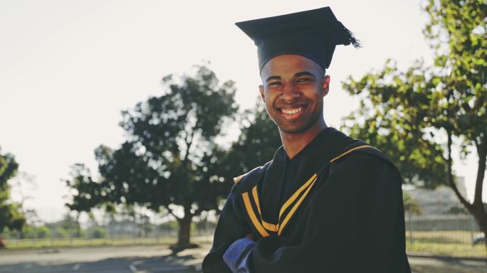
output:
[{"label": "bare neck of the man above his gown collar", "polygon": [[286,151],[286,154],[288,154],[289,159],[293,159],[296,154],[303,150],[305,146],[308,146],[308,144],[326,127],[325,119],[320,119],[319,122],[305,132],[286,133],[279,130],[284,150]]}]

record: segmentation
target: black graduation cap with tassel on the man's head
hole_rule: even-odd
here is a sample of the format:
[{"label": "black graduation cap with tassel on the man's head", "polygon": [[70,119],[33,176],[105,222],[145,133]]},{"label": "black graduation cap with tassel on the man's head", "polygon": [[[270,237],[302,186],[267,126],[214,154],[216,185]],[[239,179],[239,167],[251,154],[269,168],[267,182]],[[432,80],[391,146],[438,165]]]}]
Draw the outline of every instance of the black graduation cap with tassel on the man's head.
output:
[{"label": "black graduation cap with tassel on the man's head", "polygon": [[259,70],[271,58],[283,54],[310,58],[325,70],[336,45],[360,46],[328,6],[235,24],[256,44]]}]

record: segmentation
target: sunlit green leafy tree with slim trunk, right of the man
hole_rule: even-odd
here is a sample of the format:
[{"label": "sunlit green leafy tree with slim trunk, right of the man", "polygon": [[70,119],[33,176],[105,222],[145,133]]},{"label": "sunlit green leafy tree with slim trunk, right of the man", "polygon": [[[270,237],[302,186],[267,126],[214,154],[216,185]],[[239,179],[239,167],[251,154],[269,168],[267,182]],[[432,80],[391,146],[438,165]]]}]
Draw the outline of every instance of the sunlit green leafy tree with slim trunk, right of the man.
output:
[{"label": "sunlit green leafy tree with slim trunk, right of the man", "polygon": [[[343,84],[362,97],[345,120],[351,134],[383,149],[407,182],[446,183],[487,233],[482,190],[487,156],[486,2],[429,0],[424,33],[436,50],[434,66],[418,61],[407,71],[387,62],[378,73]],[[455,142],[465,158],[478,155],[473,203],[461,196],[452,170]],[[487,240],[486,240],[487,245]]]}]

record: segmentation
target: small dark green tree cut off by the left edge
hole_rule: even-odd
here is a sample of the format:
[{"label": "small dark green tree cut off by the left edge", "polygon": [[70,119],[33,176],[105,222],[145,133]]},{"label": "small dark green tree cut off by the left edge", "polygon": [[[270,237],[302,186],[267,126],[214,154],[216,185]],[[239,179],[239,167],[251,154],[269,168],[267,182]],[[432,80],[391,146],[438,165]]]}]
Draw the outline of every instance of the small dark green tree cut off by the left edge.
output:
[{"label": "small dark green tree cut off by the left edge", "polygon": [[12,154],[0,153],[0,232],[4,228],[20,231],[26,222],[19,204],[10,200],[10,186],[8,182],[16,175],[18,168],[19,164],[17,164]]}]

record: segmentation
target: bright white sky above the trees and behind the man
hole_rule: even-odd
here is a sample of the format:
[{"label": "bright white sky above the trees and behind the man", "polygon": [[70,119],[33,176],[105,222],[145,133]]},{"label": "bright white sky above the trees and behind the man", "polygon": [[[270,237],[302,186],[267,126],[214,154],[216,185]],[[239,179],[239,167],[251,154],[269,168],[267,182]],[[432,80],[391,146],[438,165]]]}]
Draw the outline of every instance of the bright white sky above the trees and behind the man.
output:
[{"label": "bright white sky above the trees and behind the man", "polygon": [[[234,23],[322,6],[363,43],[335,50],[328,124],[339,127],[358,105],[341,90],[347,75],[382,68],[387,58],[401,68],[421,57],[431,63],[418,0],[0,0],[0,147],[36,177],[37,188],[23,188],[33,197],[26,207],[43,220],[61,219],[69,166],[82,162],[95,171],[95,147],[123,141],[120,111],[161,94],[164,75],[209,60],[251,107],[260,83],[256,49]],[[476,157],[454,167],[471,198]]]}]

